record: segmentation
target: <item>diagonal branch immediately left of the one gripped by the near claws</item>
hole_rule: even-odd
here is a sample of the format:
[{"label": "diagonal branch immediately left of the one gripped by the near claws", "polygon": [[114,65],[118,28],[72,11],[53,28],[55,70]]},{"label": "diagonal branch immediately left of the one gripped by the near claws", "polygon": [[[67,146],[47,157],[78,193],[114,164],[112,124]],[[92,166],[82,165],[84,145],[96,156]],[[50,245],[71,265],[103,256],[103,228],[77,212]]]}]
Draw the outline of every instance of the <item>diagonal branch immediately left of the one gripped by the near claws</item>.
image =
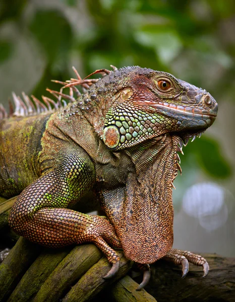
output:
[{"label": "diagonal branch immediately left of the one gripped by the near claws", "polygon": [[[102,257],[93,244],[75,247],[50,274],[34,298],[34,302],[60,300],[68,289]],[[95,279],[96,276],[94,275]]]}]

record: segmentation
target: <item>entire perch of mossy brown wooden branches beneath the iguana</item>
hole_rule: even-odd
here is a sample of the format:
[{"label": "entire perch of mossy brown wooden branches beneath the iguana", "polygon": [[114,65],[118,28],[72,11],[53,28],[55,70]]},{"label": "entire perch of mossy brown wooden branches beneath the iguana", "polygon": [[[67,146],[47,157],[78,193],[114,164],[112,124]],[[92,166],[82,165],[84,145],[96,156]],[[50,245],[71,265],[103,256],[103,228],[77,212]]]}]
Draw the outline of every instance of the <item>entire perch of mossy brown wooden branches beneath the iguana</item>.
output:
[{"label": "entire perch of mossy brown wooden branches beneath the iguana", "polygon": [[[0,200],[1,231],[8,228],[13,202]],[[235,301],[235,258],[202,254],[210,265],[208,276],[202,278],[202,268],[190,264],[185,279],[180,267],[160,260],[151,265],[147,291],[136,291],[137,283],[125,276],[132,263],[120,255],[118,275],[104,280],[110,264],[95,245],[52,250],[20,238],[0,265],[0,301]],[[142,274],[135,280],[140,283]]]}]

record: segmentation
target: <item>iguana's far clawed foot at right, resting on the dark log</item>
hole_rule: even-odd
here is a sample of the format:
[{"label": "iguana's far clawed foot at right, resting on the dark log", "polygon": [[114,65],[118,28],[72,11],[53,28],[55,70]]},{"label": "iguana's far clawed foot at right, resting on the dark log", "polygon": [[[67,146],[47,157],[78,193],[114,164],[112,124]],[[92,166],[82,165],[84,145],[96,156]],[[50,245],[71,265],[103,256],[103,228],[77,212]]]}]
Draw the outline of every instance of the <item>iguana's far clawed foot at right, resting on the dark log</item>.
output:
[{"label": "iguana's far clawed foot at right, resting on the dark log", "polygon": [[171,249],[163,258],[167,261],[173,262],[177,265],[182,265],[182,278],[184,278],[188,271],[189,271],[189,262],[193,263],[197,266],[202,266],[204,275],[203,277],[206,277],[206,275],[209,272],[209,264],[206,261],[205,258],[203,258],[200,255],[193,254],[188,251],[182,251],[177,249]]}]

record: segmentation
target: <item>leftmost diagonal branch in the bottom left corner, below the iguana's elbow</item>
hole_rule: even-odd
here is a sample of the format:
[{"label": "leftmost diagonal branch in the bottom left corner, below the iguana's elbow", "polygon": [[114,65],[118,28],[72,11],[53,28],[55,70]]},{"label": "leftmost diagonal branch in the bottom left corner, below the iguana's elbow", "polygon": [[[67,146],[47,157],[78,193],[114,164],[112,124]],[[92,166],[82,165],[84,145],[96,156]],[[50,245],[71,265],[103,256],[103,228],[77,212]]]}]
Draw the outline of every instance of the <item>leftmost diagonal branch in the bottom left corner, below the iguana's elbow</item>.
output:
[{"label": "leftmost diagonal branch in the bottom left corner, below the iguana's elbow", "polygon": [[41,247],[21,237],[0,265],[0,301],[12,293],[21,277],[34,262]]}]

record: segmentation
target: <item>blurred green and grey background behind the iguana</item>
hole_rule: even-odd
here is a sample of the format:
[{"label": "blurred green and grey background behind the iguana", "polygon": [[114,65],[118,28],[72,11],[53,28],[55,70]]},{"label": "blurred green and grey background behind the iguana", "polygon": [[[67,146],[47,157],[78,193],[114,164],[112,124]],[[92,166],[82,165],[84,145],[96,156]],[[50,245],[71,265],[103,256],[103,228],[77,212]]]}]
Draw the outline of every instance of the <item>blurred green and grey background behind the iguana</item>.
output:
[{"label": "blurred green and grey background behind the iguana", "polygon": [[215,123],[184,148],[174,182],[174,246],[182,249],[235,254],[234,54],[233,0],[0,2],[6,108],[12,91],[40,98],[46,87],[58,90],[50,80],[74,77],[73,65],[82,78],[110,64],[164,70],[216,99]]}]

